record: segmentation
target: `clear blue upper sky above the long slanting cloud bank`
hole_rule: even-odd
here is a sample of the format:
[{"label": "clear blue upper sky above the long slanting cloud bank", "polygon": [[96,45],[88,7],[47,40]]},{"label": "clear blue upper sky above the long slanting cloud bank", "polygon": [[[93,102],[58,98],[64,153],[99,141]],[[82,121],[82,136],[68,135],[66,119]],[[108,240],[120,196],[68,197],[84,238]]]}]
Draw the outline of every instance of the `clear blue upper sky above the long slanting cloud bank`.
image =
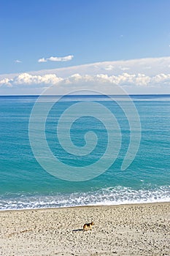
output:
[{"label": "clear blue upper sky above the long slanting cloud bank", "polygon": [[0,74],[169,57],[169,10],[169,0],[1,0]]}]

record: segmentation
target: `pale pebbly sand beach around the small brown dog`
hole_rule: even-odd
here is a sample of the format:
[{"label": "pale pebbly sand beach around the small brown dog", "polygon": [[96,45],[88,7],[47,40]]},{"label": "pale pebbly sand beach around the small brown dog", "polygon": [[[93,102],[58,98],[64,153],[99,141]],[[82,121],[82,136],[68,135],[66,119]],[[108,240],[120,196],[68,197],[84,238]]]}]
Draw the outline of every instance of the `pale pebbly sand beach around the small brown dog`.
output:
[{"label": "pale pebbly sand beach around the small brown dog", "polygon": [[0,222],[3,256],[170,255],[170,203],[1,211]]}]

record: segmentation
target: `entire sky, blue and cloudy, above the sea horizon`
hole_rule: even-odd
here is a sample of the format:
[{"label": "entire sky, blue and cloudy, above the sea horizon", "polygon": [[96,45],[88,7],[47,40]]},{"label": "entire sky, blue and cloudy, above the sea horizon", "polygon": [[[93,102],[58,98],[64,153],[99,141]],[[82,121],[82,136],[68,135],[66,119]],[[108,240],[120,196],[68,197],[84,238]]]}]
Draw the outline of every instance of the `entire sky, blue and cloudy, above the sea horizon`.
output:
[{"label": "entire sky, blue and cloudy, above the sea horizon", "polygon": [[1,0],[0,94],[62,93],[66,79],[170,94],[169,10],[169,0]]}]

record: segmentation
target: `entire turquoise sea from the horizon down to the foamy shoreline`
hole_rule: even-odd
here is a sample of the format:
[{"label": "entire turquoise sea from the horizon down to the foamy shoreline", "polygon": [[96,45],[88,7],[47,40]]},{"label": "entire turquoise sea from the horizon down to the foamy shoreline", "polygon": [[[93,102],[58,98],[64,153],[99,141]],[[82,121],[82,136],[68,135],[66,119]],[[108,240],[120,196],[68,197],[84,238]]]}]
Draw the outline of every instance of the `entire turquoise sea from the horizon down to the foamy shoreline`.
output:
[{"label": "entire turquoise sea from the horizon down to the foamy shoreline", "polygon": [[[170,201],[170,95],[38,100],[0,97],[1,211]],[[85,102],[92,103],[91,115]],[[35,105],[41,104],[34,115]]]}]

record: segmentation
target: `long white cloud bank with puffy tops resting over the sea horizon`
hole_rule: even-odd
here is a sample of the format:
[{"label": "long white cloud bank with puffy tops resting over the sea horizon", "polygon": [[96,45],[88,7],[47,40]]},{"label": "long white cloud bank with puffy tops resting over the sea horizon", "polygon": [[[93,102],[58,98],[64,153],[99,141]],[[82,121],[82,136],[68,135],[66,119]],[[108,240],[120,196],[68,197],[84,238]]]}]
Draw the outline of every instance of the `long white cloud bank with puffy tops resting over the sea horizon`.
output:
[{"label": "long white cloud bank with puffy tops resting over the sea horizon", "polygon": [[62,69],[0,76],[0,94],[41,94],[56,86],[57,94],[81,89],[114,94],[121,86],[128,94],[170,94],[170,57],[105,61]]}]

